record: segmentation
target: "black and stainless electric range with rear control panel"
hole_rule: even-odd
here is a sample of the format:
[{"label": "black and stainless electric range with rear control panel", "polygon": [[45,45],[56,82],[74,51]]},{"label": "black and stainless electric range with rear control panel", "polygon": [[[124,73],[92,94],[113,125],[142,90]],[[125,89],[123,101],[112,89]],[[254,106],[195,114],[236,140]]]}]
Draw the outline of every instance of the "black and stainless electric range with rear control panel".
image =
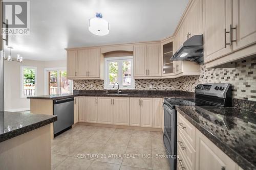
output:
[{"label": "black and stainless electric range with rear control panel", "polygon": [[169,156],[170,169],[177,168],[177,111],[175,106],[231,106],[231,85],[227,83],[199,84],[194,99],[164,99],[163,141]]}]

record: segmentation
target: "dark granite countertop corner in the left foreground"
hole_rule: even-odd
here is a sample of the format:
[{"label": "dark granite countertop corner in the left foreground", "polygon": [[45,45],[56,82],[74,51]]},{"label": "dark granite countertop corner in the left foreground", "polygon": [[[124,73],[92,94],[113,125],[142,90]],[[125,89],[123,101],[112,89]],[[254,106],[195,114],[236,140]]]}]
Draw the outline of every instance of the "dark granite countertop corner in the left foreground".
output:
[{"label": "dark granite countertop corner in the left foreground", "polygon": [[53,123],[57,116],[0,111],[0,142]]}]

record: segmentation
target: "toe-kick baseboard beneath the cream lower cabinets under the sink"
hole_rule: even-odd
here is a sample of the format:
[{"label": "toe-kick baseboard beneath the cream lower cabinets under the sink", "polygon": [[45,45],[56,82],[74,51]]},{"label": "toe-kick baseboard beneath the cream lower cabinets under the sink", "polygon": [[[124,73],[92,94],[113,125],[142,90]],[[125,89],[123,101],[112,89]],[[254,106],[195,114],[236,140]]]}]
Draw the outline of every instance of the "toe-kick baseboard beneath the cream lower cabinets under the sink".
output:
[{"label": "toe-kick baseboard beneath the cream lower cabinets under the sink", "polygon": [[154,132],[162,132],[163,131],[162,128],[146,128],[146,127],[137,127],[137,126],[96,124],[96,123],[86,123],[86,122],[78,122],[76,125],[96,126],[96,127],[105,127],[105,128],[117,128],[117,129],[129,129],[129,130],[143,130],[143,131],[154,131]]}]

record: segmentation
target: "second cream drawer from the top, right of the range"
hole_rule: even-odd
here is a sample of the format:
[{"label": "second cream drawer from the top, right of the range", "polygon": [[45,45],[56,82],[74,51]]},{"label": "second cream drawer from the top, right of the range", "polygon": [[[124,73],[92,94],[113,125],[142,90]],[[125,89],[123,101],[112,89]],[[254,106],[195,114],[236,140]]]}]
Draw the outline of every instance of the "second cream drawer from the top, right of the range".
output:
[{"label": "second cream drawer from the top, right of the range", "polygon": [[184,161],[186,162],[188,169],[195,169],[195,157],[196,151],[195,149],[189,144],[186,137],[181,133],[181,128],[178,127],[177,132],[177,145],[178,150],[183,155]]}]

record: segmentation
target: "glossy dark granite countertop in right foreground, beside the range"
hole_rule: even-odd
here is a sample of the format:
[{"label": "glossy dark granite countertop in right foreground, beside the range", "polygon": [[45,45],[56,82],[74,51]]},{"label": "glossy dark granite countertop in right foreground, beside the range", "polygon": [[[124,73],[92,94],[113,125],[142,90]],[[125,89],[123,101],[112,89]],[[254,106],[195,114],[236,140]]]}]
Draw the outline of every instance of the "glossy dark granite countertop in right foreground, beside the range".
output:
[{"label": "glossy dark granite countertop in right foreground, beside the range", "polygon": [[256,169],[256,113],[234,107],[176,106],[243,169]]}]

